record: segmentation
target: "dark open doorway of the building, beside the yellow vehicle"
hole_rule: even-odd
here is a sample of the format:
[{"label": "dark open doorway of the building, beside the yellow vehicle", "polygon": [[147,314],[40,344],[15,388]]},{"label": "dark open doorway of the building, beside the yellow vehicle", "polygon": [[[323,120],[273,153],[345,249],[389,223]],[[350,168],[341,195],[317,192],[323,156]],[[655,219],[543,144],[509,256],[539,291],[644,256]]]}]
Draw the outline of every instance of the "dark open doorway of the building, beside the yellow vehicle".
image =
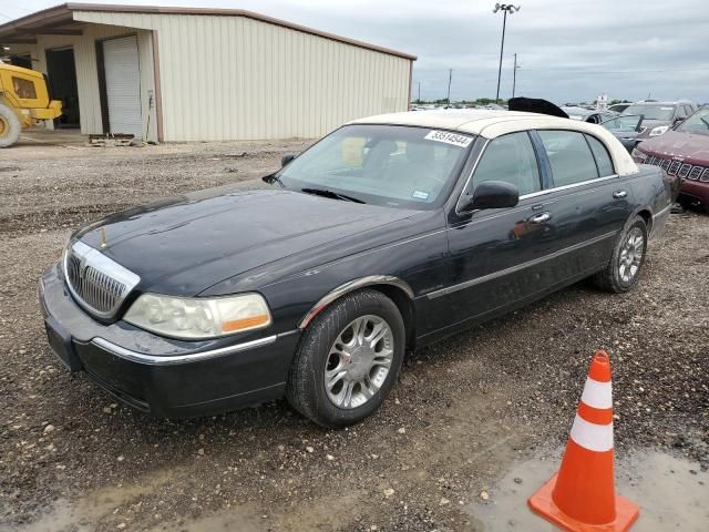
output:
[{"label": "dark open doorway of the building, beside the yellow vehicle", "polygon": [[53,100],[62,102],[62,115],[54,120],[54,127],[79,127],[79,89],[74,51],[71,48],[47,50],[45,57],[50,95]]}]

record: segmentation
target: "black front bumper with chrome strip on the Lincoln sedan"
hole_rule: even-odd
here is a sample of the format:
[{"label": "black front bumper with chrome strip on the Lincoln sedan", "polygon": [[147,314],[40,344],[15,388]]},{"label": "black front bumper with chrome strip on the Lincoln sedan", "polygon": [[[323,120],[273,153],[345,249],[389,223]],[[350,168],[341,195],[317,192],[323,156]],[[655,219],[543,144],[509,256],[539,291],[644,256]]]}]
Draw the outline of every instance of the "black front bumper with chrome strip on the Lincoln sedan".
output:
[{"label": "black front bumper with chrome strip on the Lincoln sedan", "polygon": [[40,301],[50,346],[70,371],[83,370],[121,401],[166,418],[207,416],[281,397],[300,338],[292,330],[195,342],[124,321],[103,325],[74,303],[58,265],[40,279]]}]

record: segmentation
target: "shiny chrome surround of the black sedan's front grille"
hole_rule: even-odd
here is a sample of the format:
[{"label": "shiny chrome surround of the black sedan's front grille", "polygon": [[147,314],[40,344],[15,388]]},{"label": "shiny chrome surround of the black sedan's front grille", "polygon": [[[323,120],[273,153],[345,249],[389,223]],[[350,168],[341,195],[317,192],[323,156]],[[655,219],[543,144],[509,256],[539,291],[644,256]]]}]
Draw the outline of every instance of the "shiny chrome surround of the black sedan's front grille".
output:
[{"label": "shiny chrome surround of the black sedan's front grille", "polygon": [[[91,305],[85,303],[81,296],[74,290],[74,287],[69,279],[69,254],[73,253],[81,259],[81,268],[84,269],[88,266],[101,272],[102,274],[107,275],[109,277],[117,280],[119,283],[125,286],[121,297],[116,299],[115,305],[109,311],[100,311],[93,308]],[[97,316],[103,319],[109,319],[115,316],[115,313],[119,310],[127,295],[137,286],[141,282],[141,277],[137,274],[134,274],[130,269],[121,266],[115,260],[106,257],[99,249],[94,249],[91,246],[88,246],[81,241],[70,242],[64,250],[64,257],[62,260],[64,280],[66,282],[66,287],[69,288],[70,294],[74,298],[74,300],[86,310],[89,314]]]}]

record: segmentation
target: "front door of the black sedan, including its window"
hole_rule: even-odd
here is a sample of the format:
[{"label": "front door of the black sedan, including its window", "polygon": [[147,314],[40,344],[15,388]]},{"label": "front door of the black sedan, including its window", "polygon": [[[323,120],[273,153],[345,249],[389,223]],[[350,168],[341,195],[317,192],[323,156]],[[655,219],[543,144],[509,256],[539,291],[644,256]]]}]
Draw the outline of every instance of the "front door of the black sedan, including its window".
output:
[{"label": "front door of the black sedan, including its window", "polygon": [[542,176],[527,132],[490,141],[464,194],[472,194],[483,181],[515,185],[520,203],[511,208],[451,213],[450,285],[429,295],[442,298],[449,326],[469,326],[501,314],[551,283],[540,264],[551,253],[555,235],[544,213],[535,208]]}]

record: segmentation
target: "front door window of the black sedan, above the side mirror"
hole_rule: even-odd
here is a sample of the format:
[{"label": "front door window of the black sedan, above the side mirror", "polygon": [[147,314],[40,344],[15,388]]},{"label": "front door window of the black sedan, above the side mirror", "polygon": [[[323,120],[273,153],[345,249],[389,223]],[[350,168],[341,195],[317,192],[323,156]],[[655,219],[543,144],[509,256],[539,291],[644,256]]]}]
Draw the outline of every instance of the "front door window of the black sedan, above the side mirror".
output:
[{"label": "front door window of the black sedan, above the side mirror", "polygon": [[513,184],[521,196],[542,190],[536,155],[526,132],[511,133],[490,142],[473,176],[475,185],[483,181]]}]

